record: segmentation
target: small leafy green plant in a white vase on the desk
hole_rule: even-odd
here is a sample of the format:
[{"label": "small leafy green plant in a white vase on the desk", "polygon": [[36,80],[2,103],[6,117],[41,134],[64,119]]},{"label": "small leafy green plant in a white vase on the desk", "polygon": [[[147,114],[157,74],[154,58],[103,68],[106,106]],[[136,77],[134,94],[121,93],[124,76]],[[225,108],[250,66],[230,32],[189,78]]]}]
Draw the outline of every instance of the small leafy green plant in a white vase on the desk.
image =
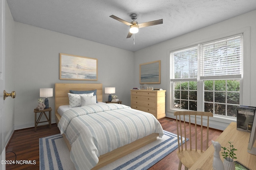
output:
[{"label": "small leafy green plant in a white vase on the desk", "polygon": [[221,147],[224,151],[221,152],[224,158],[223,165],[225,170],[235,170],[234,159],[236,159],[236,154],[234,153],[237,149],[232,145],[233,142],[228,141],[229,147]]}]

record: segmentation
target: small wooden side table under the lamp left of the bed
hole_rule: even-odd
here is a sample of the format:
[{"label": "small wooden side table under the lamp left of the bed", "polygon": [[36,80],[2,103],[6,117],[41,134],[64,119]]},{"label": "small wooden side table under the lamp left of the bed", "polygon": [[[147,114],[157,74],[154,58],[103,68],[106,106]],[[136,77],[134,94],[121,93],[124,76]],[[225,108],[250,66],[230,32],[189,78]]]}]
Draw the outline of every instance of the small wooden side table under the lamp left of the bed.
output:
[{"label": "small wooden side table under the lamp left of the bed", "polygon": [[[47,111],[49,112],[48,117],[45,113]],[[43,110],[34,109],[34,113],[35,113],[35,132],[36,132],[36,127],[41,127],[41,126],[48,126],[49,125],[49,129],[51,129],[51,127],[52,127],[52,108],[51,107],[49,107],[48,109],[43,109]],[[40,113],[38,119],[36,119],[37,118],[37,113]],[[42,115],[44,115],[46,117],[46,121],[40,121]],[[43,122],[48,122],[48,124],[38,125],[38,123],[43,123]]]}]

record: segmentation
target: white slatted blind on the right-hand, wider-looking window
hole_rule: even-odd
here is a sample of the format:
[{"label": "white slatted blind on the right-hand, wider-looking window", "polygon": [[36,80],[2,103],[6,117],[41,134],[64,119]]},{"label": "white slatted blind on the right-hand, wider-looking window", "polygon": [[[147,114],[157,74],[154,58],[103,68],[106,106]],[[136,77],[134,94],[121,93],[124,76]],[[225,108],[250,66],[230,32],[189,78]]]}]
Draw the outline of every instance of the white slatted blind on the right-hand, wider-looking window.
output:
[{"label": "white slatted blind on the right-hand, wider-looking window", "polygon": [[200,79],[241,78],[242,35],[201,45]]}]

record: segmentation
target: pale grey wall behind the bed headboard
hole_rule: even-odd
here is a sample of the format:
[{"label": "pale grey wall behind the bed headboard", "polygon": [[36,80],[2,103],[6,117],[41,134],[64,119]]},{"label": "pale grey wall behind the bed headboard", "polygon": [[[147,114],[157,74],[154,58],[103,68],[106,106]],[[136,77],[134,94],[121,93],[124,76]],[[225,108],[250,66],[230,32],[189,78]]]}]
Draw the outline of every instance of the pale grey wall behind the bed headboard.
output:
[{"label": "pale grey wall behind the bed headboard", "polygon": [[[55,83],[102,83],[116,87],[115,95],[130,105],[133,86],[134,52],[15,22],[14,89],[15,129],[34,126],[34,108],[40,88]],[[98,81],[59,80],[59,53],[98,59]],[[54,97],[48,98],[54,117]],[[107,101],[108,94],[103,94]]]}]

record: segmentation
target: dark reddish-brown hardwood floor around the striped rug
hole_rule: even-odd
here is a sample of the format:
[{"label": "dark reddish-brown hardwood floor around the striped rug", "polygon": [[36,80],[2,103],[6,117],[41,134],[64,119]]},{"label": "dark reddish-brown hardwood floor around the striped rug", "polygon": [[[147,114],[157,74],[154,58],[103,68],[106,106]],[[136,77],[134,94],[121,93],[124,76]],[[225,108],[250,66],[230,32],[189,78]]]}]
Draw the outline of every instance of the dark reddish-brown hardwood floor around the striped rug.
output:
[{"label": "dark reddish-brown hardwood floor around the striped rug", "polygon": [[[176,121],[170,118],[159,119],[164,130],[176,133]],[[200,129],[200,128],[198,128]],[[206,129],[204,129],[205,131]],[[6,160],[31,160],[32,164],[8,164],[6,170],[39,170],[39,138],[60,133],[56,124],[52,124],[52,128],[48,126],[38,127],[37,131],[34,128],[21,129],[14,131],[12,139],[6,148]],[[209,130],[209,141],[215,140],[222,131],[215,129]],[[209,142],[209,145],[212,143]],[[192,144],[193,145],[193,144]],[[12,151],[12,152],[9,152]],[[14,154],[14,153],[15,154]],[[35,160],[36,164],[33,164]],[[176,150],[163,158],[150,168],[150,170],[177,170],[179,159],[176,155]],[[184,166],[182,166],[184,170]]]}]

